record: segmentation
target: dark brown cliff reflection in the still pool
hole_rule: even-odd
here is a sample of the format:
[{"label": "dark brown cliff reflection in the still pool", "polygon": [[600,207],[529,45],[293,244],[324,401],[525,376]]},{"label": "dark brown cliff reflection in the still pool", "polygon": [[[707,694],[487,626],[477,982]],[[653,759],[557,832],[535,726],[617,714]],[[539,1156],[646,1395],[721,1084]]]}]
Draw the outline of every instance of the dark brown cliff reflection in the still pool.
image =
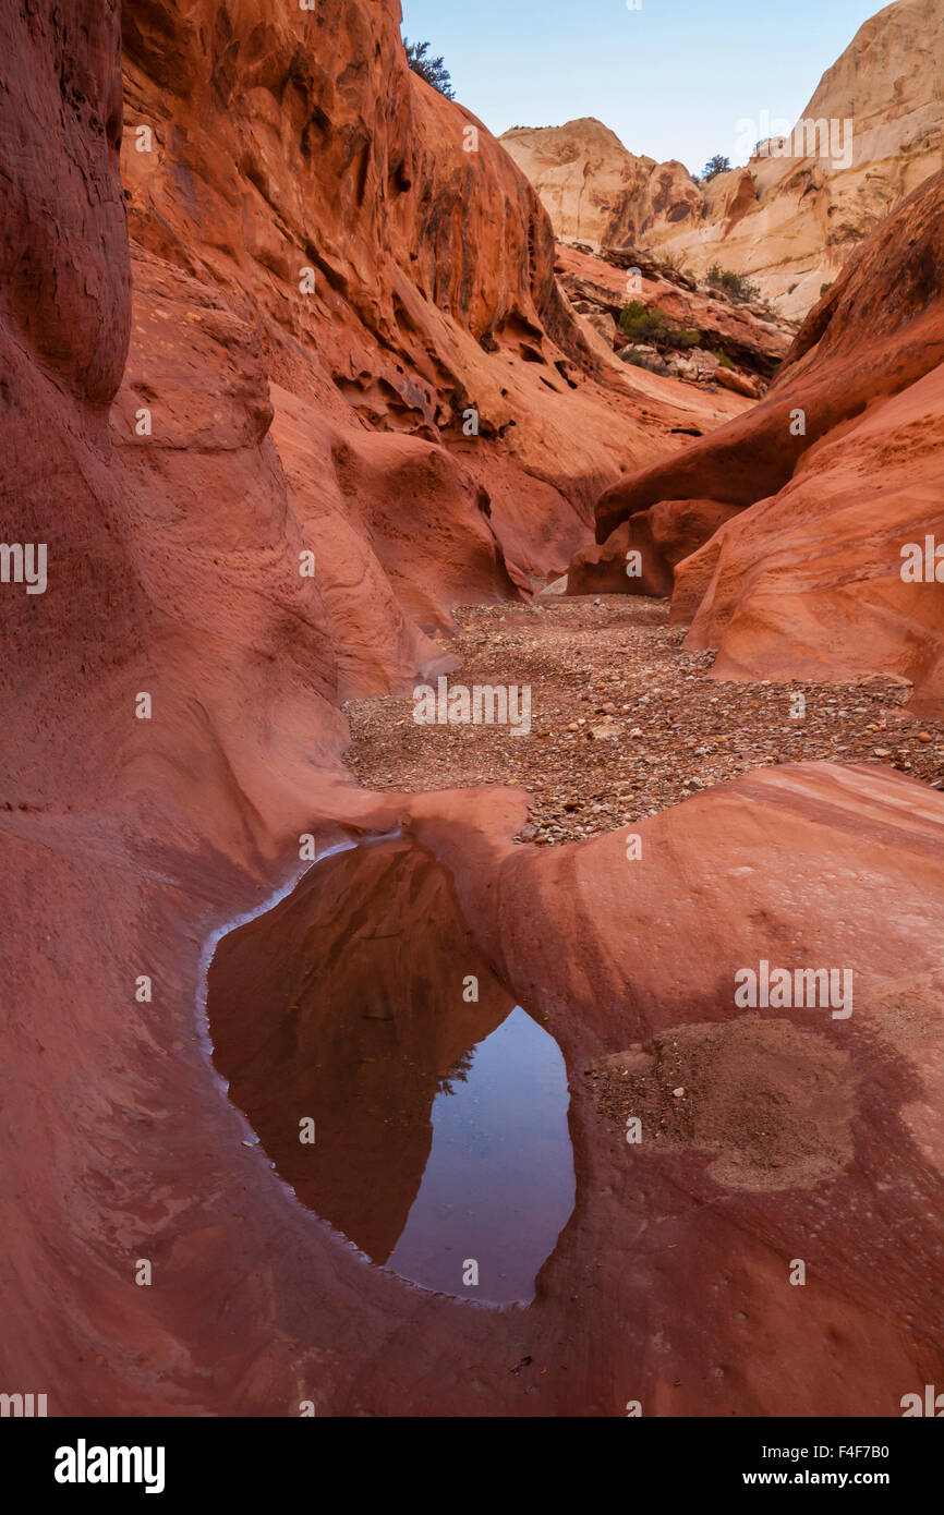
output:
[{"label": "dark brown cliff reflection in the still pool", "polygon": [[[479,1001],[464,980],[479,980]],[[444,1080],[514,1009],[445,873],[402,841],[326,859],[226,936],[209,971],[215,1062],[299,1198],[385,1262]],[[314,1145],[299,1139],[315,1121]]]}]

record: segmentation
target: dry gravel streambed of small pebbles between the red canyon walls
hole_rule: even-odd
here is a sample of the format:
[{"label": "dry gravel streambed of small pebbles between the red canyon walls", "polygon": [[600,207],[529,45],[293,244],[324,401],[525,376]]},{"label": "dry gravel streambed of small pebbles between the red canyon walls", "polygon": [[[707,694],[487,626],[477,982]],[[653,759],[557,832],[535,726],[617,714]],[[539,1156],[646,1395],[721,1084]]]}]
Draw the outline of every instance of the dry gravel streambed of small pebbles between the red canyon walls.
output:
[{"label": "dry gravel streambed of small pebbles between the red canyon walls", "polygon": [[[345,762],[371,789],[509,783],[533,795],[523,839],[573,841],[655,815],[764,764],[886,764],[944,788],[944,724],[902,709],[897,679],[720,683],[668,604],[630,595],[467,606],[442,639],[455,685],[529,685],[530,735],[420,726],[411,697],[344,706]],[[805,697],[805,714],[792,697]]]}]

